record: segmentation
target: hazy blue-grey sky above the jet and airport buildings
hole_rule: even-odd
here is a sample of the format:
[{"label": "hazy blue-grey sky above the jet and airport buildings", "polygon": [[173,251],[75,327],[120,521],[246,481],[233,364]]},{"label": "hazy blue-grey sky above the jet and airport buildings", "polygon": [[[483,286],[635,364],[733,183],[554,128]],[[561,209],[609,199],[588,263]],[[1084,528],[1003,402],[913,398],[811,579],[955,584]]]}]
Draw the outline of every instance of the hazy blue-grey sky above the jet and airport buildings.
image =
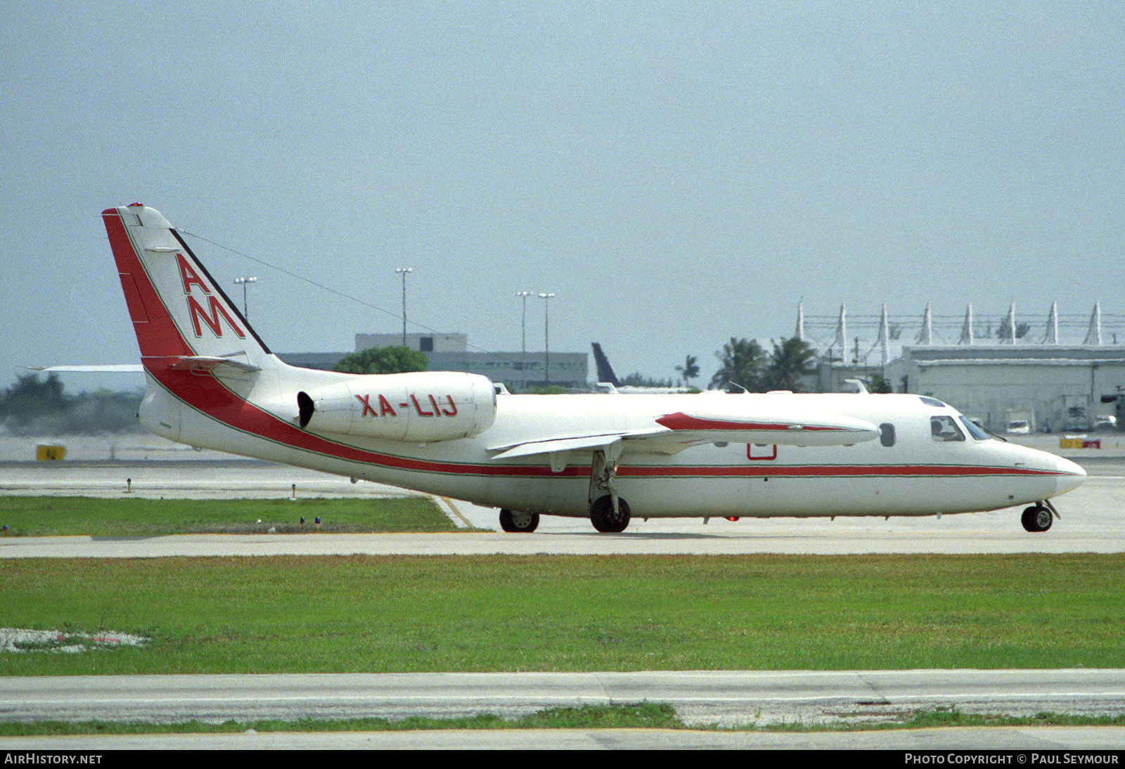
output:
[{"label": "hazy blue-grey sky above the jet and airport buildings", "polygon": [[551,349],[619,374],[710,378],[802,297],[1122,314],[1123,35],[1105,2],[0,0],[0,387],[137,360],[98,216],[133,201],[389,311],[188,238],[279,352],[399,329],[397,266],[485,350],[554,291]]}]

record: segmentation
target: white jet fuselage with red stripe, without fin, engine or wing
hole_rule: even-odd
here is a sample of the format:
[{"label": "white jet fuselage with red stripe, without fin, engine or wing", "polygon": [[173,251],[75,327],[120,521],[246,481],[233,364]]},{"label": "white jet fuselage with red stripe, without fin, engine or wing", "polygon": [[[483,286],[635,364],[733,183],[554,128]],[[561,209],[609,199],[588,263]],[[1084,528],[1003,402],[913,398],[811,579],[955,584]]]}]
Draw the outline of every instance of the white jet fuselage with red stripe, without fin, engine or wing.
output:
[{"label": "white jet fuselage with red stripe, without fin, engine or wing", "polygon": [[[290,376],[297,374],[309,384],[342,377],[291,370]],[[224,389],[237,392],[237,378],[224,380]],[[152,391],[163,390],[154,378],[150,381]],[[1048,499],[1084,478],[1078,465],[1053,454],[994,437],[974,438],[955,409],[928,405],[911,395],[501,395],[495,422],[480,435],[403,443],[285,429],[292,420],[292,409],[284,398],[287,393],[291,398],[295,387],[286,381],[242,393],[258,405],[262,420],[274,423],[272,429],[259,429],[256,435],[184,404],[166,390],[164,397],[158,397],[160,402],[146,399],[142,418],[154,433],[190,445],[484,506],[580,517],[588,516],[588,451],[495,461],[488,446],[564,432],[627,432],[664,414],[690,409],[701,399],[719,404],[749,399],[766,410],[808,404],[881,426],[880,440],[843,446],[717,442],[670,455],[626,453],[618,464],[616,490],[629,500],[633,517],[968,513]],[[428,398],[425,402],[432,411]],[[170,429],[171,411],[179,414],[178,429]],[[245,416],[242,411],[238,407],[234,416]],[[932,429],[935,417],[955,420],[962,440],[936,441]],[[882,437],[889,433],[884,425],[891,426],[892,438]]]}]

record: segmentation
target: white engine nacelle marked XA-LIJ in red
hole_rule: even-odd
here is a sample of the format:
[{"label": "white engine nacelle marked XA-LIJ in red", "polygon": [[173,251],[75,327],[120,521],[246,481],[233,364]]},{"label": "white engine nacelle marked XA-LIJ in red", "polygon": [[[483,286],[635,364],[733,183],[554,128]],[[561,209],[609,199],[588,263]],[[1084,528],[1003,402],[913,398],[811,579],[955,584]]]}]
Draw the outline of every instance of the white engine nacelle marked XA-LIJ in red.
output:
[{"label": "white engine nacelle marked XA-LIJ in red", "polygon": [[487,377],[458,371],[362,374],[298,392],[297,408],[309,429],[430,443],[488,429],[496,393]]}]

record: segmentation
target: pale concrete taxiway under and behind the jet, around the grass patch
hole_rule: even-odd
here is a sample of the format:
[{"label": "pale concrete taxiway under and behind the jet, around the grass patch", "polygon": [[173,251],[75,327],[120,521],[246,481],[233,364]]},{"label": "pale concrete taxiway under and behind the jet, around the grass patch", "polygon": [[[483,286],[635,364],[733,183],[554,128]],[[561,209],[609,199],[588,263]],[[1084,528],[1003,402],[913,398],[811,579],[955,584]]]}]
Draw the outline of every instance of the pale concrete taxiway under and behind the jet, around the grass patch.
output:
[{"label": "pale concrete taxiway under and behind the jet, around the grass patch", "polygon": [[[206,453],[206,452],[205,452]],[[216,454],[216,452],[210,452]],[[1022,508],[922,518],[633,519],[622,534],[597,534],[584,518],[543,516],[534,534],[498,531],[497,512],[457,500],[439,506],[458,534],[181,535],[148,539],[8,537],[0,558],[156,558],[254,554],[737,554],[737,553],[1063,553],[1125,552],[1125,458],[1084,463],[1090,477],[1055,505],[1062,517],[1042,534],[1019,524]],[[129,489],[128,491],[126,489]],[[0,495],[287,498],[411,494],[379,483],[264,462],[0,462]],[[2,515],[2,513],[0,513]],[[0,521],[0,524],[3,522]],[[263,527],[264,528],[264,527]]]}]

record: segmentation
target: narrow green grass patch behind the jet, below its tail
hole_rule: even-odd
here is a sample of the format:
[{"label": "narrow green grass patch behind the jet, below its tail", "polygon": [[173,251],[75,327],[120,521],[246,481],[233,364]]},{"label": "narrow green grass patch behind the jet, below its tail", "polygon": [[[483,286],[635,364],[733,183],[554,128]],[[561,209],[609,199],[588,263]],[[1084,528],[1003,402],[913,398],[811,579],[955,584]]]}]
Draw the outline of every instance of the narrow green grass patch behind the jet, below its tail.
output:
[{"label": "narrow green grass patch behind the jet, below its tail", "polygon": [[[306,524],[300,526],[300,517]],[[0,497],[9,536],[159,536],[163,534],[315,532],[451,532],[428,497],[390,499],[99,499]],[[261,523],[258,523],[258,521]]]}]

